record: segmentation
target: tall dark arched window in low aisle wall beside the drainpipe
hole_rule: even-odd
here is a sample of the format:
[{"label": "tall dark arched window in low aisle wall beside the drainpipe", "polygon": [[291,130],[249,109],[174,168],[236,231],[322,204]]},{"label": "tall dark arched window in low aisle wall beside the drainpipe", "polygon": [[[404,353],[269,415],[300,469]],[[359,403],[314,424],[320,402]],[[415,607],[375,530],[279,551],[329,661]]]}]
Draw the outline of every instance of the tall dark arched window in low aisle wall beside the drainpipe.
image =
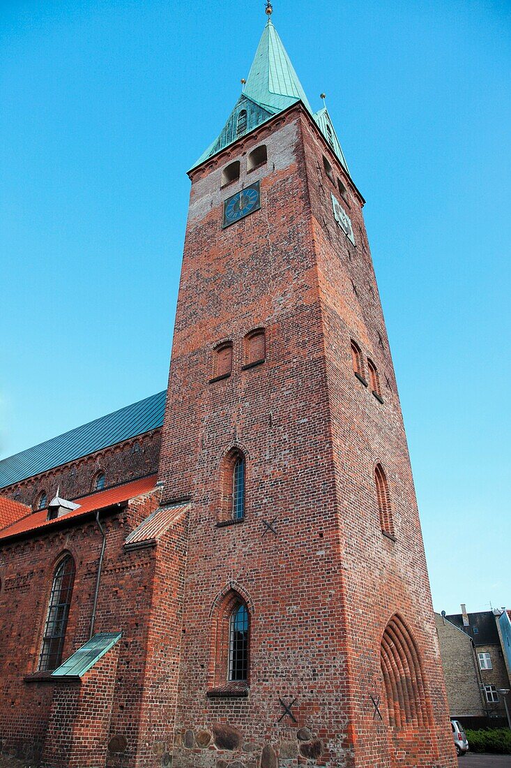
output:
[{"label": "tall dark arched window in low aisle wall beside the drainpipe", "polygon": [[74,560],[71,554],[66,554],[55,568],[51,584],[48,617],[39,657],[40,670],[54,670],[61,664],[73,584]]}]

